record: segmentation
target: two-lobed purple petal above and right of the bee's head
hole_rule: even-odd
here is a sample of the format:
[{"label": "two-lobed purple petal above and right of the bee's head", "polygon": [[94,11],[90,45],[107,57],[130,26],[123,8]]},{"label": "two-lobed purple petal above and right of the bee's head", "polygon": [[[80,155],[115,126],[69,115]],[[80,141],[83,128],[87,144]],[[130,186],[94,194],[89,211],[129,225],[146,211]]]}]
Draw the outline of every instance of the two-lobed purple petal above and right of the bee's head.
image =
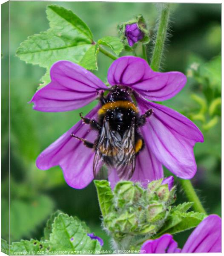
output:
[{"label": "two-lobed purple petal above and right of the bee's head", "polygon": [[127,85],[153,101],[164,101],[175,96],[186,84],[180,72],[154,72],[138,57],[124,56],[112,63],[107,79],[111,85]]}]

